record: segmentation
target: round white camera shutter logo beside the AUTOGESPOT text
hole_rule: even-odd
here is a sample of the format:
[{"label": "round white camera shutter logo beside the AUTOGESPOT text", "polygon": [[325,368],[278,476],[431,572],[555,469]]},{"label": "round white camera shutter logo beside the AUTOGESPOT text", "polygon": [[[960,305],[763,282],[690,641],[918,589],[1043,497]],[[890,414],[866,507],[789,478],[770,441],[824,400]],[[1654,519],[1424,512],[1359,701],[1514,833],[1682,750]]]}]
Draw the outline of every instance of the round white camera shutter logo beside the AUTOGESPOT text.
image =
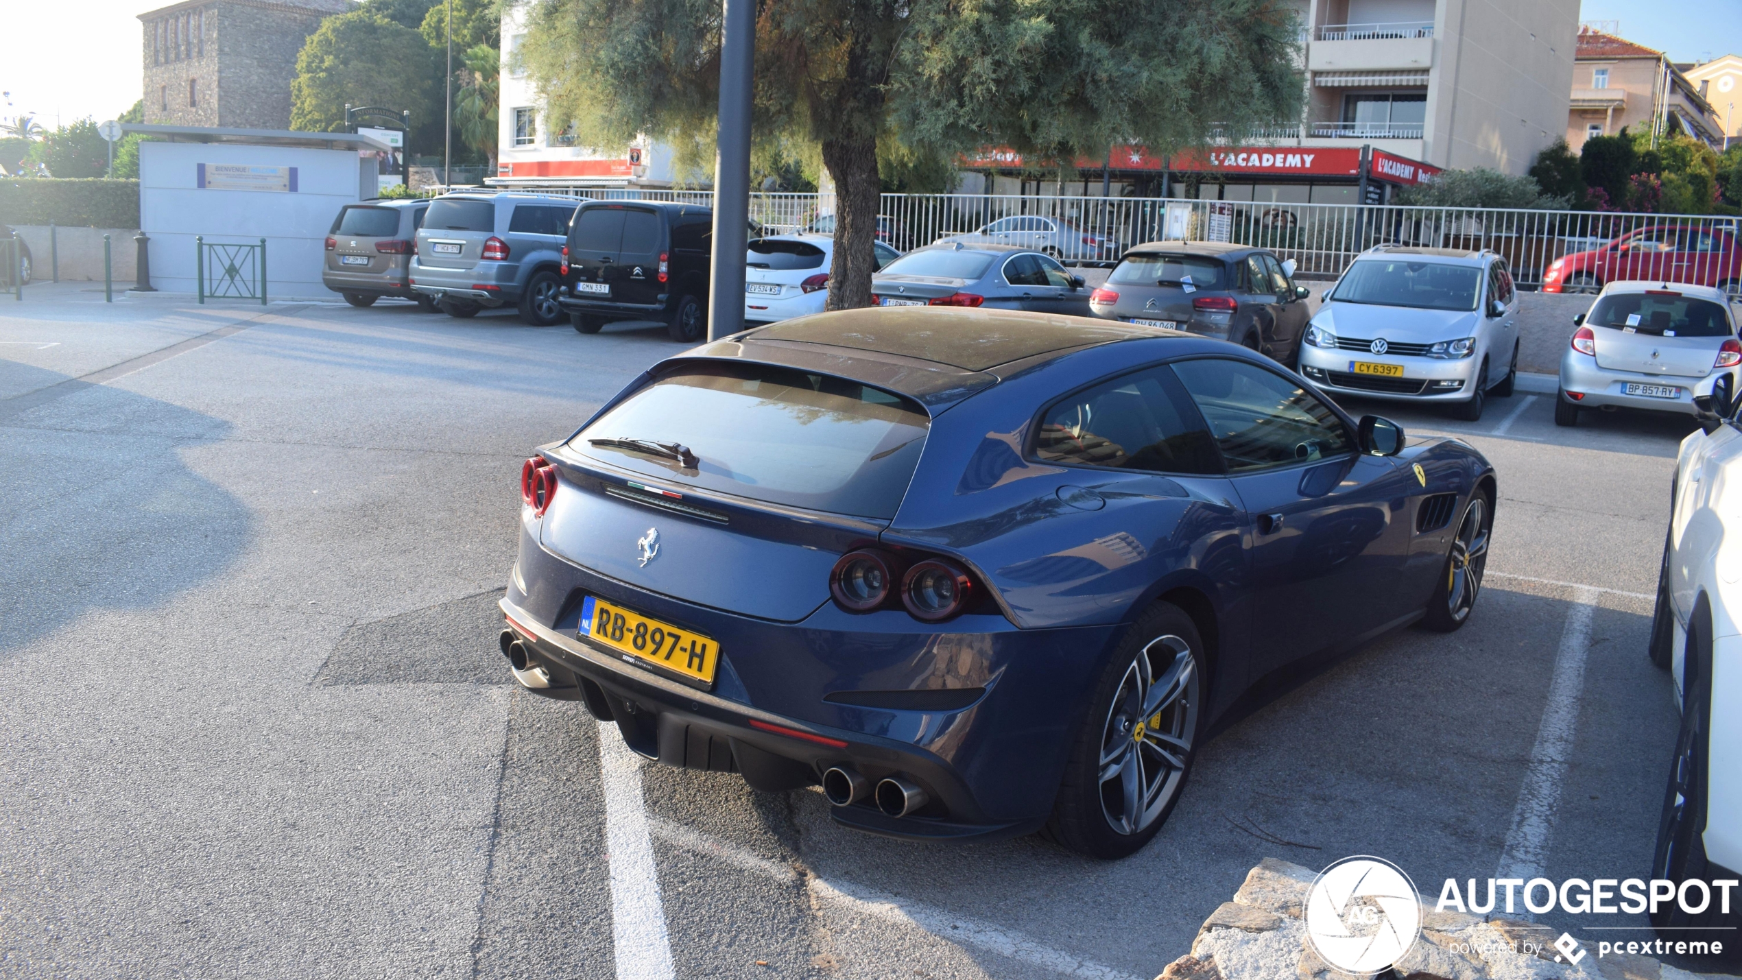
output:
[{"label": "round white camera shutter logo beside the AUTOGESPOT text", "polygon": [[1345,973],[1378,973],[1421,935],[1421,905],[1404,870],[1373,856],[1343,858],[1306,893],[1306,940]]}]

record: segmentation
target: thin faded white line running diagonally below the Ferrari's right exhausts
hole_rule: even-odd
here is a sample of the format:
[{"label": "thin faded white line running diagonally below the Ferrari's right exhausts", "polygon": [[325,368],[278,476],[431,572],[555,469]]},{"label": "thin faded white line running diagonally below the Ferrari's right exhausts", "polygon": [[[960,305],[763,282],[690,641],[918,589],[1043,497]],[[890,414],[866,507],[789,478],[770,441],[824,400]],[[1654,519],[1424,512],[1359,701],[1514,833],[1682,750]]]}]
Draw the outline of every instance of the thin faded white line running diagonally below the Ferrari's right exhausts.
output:
[{"label": "thin faded white line running diagonally below the Ferrari's right exhausts", "polygon": [[[686,851],[718,858],[742,870],[760,874],[773,881],[794,881],[798,877],[798,872],[789,865],[753,855],[744,848],[700,834],[679,823],[655,816],[648,820],[648,827],[652,827],[653,834],[662,841],[676,844]],[[611,863],[615,867],[615,858]],[[817,876],[808,876],[805,888],[819,902],[829,902],[885,923],[915,926],[944,942],[979,947],[988,952],[996,952],[998,956],[1040,966],[1054,973],[1063,973],[1066,977],[1085,977],[1090,980],[1141,980],[1139,977],[1113,970],[1111,966],[1103,966],[1061,949],[1035,942],[1019,931],[955,916],[922,902],[909,902],[906,898],[885,895],[857,884],[836,884]],[[622,968],[618,966],[618,970]],[[618,977],[622,977],[622,973],[618,973]]]}]

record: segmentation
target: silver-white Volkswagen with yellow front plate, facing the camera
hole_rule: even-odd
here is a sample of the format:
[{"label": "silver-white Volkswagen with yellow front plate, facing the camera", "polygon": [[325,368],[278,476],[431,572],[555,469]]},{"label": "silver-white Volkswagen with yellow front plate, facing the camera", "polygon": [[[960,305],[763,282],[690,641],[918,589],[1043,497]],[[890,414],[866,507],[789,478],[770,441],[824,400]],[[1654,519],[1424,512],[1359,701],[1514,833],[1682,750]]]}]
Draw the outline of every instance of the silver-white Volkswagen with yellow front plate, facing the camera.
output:
[{"label": "silver-white Volkswagen with yellow front plate, facing the camera", "polygon": [[1306,326],[1300,371],[1333,393],[1451,402],[1482,418],[1512,395],[1517,291],[1491,251],[1376,245],[1361,252]]}]

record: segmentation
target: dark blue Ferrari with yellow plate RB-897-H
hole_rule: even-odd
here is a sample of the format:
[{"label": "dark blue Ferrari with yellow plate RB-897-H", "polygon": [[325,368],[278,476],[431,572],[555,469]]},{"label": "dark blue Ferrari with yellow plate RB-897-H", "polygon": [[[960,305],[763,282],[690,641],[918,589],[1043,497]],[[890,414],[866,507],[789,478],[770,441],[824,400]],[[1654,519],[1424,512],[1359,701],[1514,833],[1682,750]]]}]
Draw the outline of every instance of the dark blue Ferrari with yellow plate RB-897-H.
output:
[{"label": "dark blue Ferrari with yellow plate RB-897-H", "polygon": [[1469,620],[1495,473],[1225,341],[873,308],[657,364],[521,496],[528,689],[848,827],[1117,858],[1258,679]]}]

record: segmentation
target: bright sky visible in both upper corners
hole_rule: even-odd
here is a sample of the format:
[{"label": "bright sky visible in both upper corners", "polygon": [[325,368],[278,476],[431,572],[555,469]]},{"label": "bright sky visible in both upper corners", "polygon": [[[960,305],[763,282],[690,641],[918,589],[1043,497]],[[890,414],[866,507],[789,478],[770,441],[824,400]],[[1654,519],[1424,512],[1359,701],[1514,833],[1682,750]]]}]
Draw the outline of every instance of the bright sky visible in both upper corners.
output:
[{"label": "bright sky visible in both upper corners", "polygon": [[[66,2],[7,5],[0,118],[31,113],[51,129],[80,117],[103,122],[139,97],[138,16],[169,0]],[[1622,37],[1674,61],[1742,54],[1742,0],[1583,0],[1580,17],[1620,21]]]}]

